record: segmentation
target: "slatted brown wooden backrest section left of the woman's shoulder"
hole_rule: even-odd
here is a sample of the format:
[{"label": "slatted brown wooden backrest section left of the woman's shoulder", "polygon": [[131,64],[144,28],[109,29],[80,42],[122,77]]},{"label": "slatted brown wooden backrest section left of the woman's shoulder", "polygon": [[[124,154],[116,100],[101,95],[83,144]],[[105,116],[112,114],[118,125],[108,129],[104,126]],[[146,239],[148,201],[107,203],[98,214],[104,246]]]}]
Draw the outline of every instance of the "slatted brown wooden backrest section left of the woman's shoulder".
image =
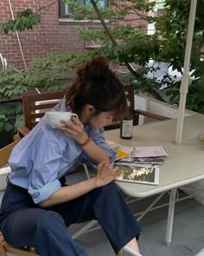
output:
[{"label": "slatted brown wooden backrest section left of the woman's shoulder", "polygon": [[50,108],[54,108],[65,94],[66,92],[53,92],[22,95],[22,108],[26,128],[29,128],[29,130],[34,128],[45,112]]}]

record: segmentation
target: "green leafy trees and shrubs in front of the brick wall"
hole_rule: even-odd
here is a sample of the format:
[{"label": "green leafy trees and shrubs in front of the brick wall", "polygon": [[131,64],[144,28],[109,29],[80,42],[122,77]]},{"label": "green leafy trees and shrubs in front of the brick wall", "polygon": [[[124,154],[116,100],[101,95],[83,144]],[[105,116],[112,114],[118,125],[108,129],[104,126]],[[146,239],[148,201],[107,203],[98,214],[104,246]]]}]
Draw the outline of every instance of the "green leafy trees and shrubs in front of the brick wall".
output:
[{"label": "green leafy trees and shrubs in front of the brick wall", "polygon": [[[73,75],[72,70],[92,56],[103,55],[113,65],[126,65],[128,75],[123,76],[126,83],[132,82],[136,93],[148,92],[161,100],[178,105],[180,81],[169,74],[162,79],[156,77],[158,65],[165,62],[182,73],[186,46],[188,14],[190,0],[166,0],[162,16],[155,16],[156,2],[147,3],[144,0],[127,0],[118,2],[111,0],[112,8],[100,9],[95,0],[90,0],[92,8],[79,6],[74,0],[65,0],[69,8],[74,10],[74,20],[99,19],[102,29],[87,31],[78,28],[80,40],[99,41],[96,49],[83,52],[50,54],[44,58],[32,60],[29,69],[15,71],[9,65],[8,69],[0,70],[0,97],[10,99],[21,95],[30,88],[55,91],[68,88],[70,81],[63,80]],[[131,26],[130,14],[137,14],[138,19],[154,23],[156,32],[147,35],[145,26]],[[108,23],[106,22],[108,21]],[[125,21],[125,23],[124,23]],[[129,23],[130,22],[130,23]],[[16,15],[14,21],[1,24],[0,31],[4,34],[24,30],[32,30],[41,23],[41,14],[32,10],[24,10]],[[189,87],[187,108],[204,114],[204,0],[198,0],[194,26],[194,43],[192,47],[189,74],[192,84]],[[132,64],[136,69],[132,69]],[[61,81],[64,82],[61,82]],[[16,115],[21,113],[21,107]],[[10,116],[0,111],[0,129],[5,127],[6,118]]]}]

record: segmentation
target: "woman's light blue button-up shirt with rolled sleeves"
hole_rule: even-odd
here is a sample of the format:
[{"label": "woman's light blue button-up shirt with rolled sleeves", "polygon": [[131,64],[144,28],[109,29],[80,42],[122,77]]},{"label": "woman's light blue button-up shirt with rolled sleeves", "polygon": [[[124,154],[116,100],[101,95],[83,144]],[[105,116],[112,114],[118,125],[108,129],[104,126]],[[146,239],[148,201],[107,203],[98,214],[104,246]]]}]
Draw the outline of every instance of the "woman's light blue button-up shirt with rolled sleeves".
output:
[{"label": "woman's light blue button-up shirt with rolled sleeves", "polygon": [[[67,111],[65,99],[54,110]],[[116,153],[105,143],[104,128],[86,125],[85,130],[92,141],[107,151],[113,163]],[[61,187],[59,179],[71,173],[80,162],[96,167],[76,141],[67,133],[51,128],[43,117],[13,149],[9,160],[10,182],[28,189],[38,204],[54,194]]]}]

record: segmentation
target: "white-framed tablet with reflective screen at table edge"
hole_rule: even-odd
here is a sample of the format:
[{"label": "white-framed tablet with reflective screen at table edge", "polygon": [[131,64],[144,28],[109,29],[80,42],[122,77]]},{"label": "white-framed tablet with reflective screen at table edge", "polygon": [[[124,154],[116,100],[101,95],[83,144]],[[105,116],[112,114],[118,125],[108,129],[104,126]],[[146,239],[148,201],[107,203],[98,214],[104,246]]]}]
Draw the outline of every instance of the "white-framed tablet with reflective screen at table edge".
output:
[{"label": "white-framed tablet with reflective screen at table edge", "polygon": [[116,178],[117,181],[159,185],[159,167],[134,165],[132,163],[115,163],[114,166],[123,170],[122,174]]}]

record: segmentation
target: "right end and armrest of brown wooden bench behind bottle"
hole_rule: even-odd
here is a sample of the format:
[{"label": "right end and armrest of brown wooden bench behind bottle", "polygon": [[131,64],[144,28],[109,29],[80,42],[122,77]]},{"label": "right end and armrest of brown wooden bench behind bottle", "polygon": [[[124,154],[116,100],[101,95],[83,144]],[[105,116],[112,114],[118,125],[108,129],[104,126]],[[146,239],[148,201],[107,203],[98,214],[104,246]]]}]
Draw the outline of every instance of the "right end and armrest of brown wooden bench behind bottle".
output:
[{"label": "right end and armrest of brown wooden bench behind bottle", "polygon": [[[130,85],[125,85],[124,86],[124,94],[127,100],[129,100],[129,102],[131,102],[131,113],[133,115],[133,125],[138,125],[139,123],[139,115],[144,115],[153,119],[156,119],[158,121],[164,121],[164,120],[168,120],[169,118],[163,115],[157,115],[148,111],[143,111],[140,109],[135,109],[135,97],[134,97],[134,87],[132,84]],[[119,128],[120,127],[120,122],[116,121],[105,127],[105,130],[110,130],[110,129],[115,129],[115,128]]]}]

